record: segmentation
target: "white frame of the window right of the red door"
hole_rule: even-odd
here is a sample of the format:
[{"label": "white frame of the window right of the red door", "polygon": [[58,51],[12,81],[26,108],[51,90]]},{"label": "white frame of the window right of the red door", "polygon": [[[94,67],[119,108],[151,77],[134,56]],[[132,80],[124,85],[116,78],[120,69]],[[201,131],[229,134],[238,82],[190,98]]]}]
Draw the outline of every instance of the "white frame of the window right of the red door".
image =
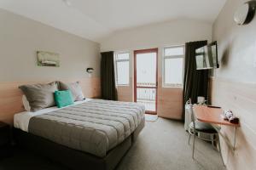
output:
[{"label": "white frame of the window right of the red door", "polygon": [[[166,48],[183,48],[183,55],[166,55]],[[162,84],[163,88],[183,88],[183,82],[181,84],[166,83],[166,59],[183,59],[183,73],[182,80],[184,79],[184,58],[185,58],[185,46],[175,45],[163,48],[163,58],[162,58]]]}]

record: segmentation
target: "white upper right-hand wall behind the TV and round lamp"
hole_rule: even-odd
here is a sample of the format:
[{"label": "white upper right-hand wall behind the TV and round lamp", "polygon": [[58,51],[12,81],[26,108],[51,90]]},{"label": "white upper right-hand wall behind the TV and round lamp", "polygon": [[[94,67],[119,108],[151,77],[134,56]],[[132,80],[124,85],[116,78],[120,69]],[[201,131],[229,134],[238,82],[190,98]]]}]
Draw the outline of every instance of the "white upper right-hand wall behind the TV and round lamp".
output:
[{"label": "white upper right-hand wall behind the TV and round lamp", "polygon": [[221,67],[218,77],[234,81],[256,82],[256,20],[246,26],[234,22],[236,8],[247,0],[230,0],[214,22],[212,39],[218,41],[218,55]]}]

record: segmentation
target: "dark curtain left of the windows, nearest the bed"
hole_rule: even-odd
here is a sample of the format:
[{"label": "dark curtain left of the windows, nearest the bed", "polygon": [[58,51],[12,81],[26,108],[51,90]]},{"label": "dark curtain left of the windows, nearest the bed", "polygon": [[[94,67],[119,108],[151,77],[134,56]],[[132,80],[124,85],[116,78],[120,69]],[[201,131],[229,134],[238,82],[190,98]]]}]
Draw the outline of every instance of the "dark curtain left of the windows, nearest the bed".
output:
[{"label": "dark curtain left of the windows, nearest the bed", "polygon": [[101,88],[102,99],[116,100],[113,51],[102,53]]}]

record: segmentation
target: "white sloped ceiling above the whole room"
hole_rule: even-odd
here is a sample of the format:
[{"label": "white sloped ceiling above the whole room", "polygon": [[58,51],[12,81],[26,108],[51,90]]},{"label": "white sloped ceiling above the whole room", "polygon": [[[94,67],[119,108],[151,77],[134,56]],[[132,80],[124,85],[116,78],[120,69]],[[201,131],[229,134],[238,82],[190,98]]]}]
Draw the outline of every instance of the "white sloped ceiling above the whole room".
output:
[{"label": "white sloped ceiling above the whole room", "polygon": [[114,31],[186,18],[212,23],[225,0],[0,0],[0,8],[99,42]]}]

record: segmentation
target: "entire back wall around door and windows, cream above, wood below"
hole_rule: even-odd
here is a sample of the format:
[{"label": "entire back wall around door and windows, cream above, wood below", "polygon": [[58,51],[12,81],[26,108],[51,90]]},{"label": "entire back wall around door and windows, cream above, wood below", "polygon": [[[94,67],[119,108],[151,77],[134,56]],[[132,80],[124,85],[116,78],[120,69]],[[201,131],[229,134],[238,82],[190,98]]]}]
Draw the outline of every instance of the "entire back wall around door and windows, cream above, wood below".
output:
[{"label": "entire back wall around door and windows, cream above, wood below", "polygon": [[158,115],[182,118],[183,88],[162,87],[162,51],[166,46],[183,45],[185,42],[212,40],[212,24],[198,20],[172,20],[125,31],[116,31],[101,41],[101,51],[127,51],[131,53],[130,86],[118,87],[119,99],[133,99],[133,50],[158,48]]}]

